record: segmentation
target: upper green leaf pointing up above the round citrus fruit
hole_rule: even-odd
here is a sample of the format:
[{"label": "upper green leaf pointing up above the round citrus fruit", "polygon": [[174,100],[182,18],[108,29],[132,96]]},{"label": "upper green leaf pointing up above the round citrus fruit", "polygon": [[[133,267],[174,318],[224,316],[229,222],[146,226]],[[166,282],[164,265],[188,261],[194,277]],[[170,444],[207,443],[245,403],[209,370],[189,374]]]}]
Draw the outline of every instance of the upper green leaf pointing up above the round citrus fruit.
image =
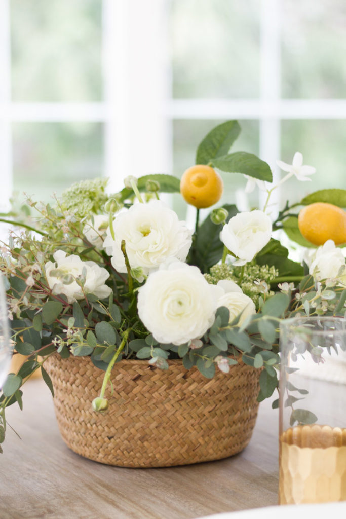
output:
[{"label": "upper green leaf pointing up above the round citrus fruit", "polygon": [[197,148],[196,164],[208,164],[212,159],[227,155],[240,133],[238,121],[226,121],[213,128]]}]

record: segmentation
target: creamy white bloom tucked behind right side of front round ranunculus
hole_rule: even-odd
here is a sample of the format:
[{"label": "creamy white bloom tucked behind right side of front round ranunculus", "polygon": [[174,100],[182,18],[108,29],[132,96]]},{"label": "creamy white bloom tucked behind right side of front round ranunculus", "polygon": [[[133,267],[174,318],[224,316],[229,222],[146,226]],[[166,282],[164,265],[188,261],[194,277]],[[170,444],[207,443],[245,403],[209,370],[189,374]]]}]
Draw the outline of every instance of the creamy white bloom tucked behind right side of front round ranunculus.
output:
[{"label": "creamy white bloom tucked behind right side of front round ranunculus", "polygon": [[229,322],[232,322],[240,314],[241,317],[238,322],[238,326],[241,326],[245,319],[256,313],[256,307],[250,297],[243,294],[241,288],[233,283],[235,286],[227,285],[227,280],[221,280],[217,283],[226,291],[222,296],[218,298],[217,306],[226,306],[229,310]]}]

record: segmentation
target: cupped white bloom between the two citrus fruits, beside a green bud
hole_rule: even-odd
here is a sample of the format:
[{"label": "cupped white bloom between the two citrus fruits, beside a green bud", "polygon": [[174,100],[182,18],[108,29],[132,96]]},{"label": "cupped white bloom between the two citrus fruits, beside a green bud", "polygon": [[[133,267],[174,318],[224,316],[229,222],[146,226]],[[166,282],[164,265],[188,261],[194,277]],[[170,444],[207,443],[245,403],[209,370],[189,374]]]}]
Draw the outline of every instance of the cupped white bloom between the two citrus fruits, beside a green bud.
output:
[{"label": "cupped white bloom between the two citrus fruits, beside a green bud", "polygon": [[234,265],[245,265],[267,245],[271,231],[271,220],[263,211],[243,212],[224,226],[220,240],[239,258]]}]

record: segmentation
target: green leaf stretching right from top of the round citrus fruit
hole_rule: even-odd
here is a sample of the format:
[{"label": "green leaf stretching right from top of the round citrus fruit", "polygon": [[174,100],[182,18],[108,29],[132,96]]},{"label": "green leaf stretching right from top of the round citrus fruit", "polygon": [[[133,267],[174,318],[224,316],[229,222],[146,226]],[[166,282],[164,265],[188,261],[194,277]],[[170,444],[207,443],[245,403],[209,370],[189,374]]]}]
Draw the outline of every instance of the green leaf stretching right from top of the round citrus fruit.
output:
[{"label": "green leaf stretching right from top of the round citrus fruit", "polygon": [[213,166],[228,173],[243,173],[255,179],[272,182],[273,175],[269,165],[256,155],[236,152],[212,160]]}]

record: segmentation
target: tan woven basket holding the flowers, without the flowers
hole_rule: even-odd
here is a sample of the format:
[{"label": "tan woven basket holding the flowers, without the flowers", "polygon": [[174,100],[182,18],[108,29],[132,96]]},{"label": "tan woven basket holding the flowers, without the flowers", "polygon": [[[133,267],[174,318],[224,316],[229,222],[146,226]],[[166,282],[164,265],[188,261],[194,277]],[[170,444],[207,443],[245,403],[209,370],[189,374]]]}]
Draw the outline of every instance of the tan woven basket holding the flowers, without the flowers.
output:
[{"label": "tan woven basket holding the flowers, without the flowers", "polygon": [[[182,361],[159,370],[122,360],[106,392],[106,414],[92,411],[104,372],[88,358],[45,362],[52,379],[60,433],[74,452],[119,467],[171,467],[226,458],[250,441],[258,411],[260,370],[230,366],[206,379]],[[108,386],[109,387],[109,386]]]}]

